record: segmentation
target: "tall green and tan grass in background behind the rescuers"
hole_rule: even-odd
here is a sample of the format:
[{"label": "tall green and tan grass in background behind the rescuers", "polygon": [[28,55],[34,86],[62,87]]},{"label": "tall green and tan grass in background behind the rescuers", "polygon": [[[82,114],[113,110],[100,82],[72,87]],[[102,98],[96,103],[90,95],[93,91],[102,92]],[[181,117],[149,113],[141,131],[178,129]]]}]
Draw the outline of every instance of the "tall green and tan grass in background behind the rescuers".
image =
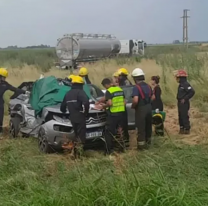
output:
[{"label": "tall green and tan grass in background behind the rescuers", "polygon": [[[205,48],[205,47],[203,47]],[[165,104],[172,104],[177,92],[177,83],[172,75],[176,69],[184,68],[188,71],[188,80],[196,89],[195,103],[202,106],[207,103],[206,89],[203,85],[207,84],[207,64],[208,54],[199,52],[200,47],[191,46],[187,50],[183,46],[158,46],[147,47],[144,57],[116,58],[114,60],[103,60],[94,64],[87,64],[92,81],[100,86],[104,76],[112,76],[119,67],[126,67],[131,72],[135,67],[145,70],[147,81],[151,75],[161,76],[161,86],[163,88],[163,98]],[[151,60],[150,60],[151,59]],[[19,50],[0,50],[0,65],[8,67],[12,75],[12,82],[25,79],[34,79],[37,69],[40,72],[53,74],[51,68],[56,61],[54,49],[19,49]],[[156,66],[156,64],[158,66]],[[29,67],[28,67],[29,66]],[[25,75],[28,68],[30,75]],[[33,71],[30,72],[31,68]],[[54,71],[54,70],[53,70]],[[75,71],[76,73],[77,71]],[[66,75],[69,71],[58,71],[56,75]]]}]

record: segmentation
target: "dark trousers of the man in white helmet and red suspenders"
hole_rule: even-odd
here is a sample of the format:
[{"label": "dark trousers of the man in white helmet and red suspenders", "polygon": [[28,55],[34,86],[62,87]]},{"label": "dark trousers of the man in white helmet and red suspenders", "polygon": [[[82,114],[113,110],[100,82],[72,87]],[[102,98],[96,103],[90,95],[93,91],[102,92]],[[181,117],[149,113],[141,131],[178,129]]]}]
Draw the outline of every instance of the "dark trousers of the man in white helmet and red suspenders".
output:
[{"label": "dark trousers of the man in white helmet and red suspenders", "polygon": [[135,112],[135,123],[138,132],[138,145],[151,142],[152,136],[152,106],[147,104],[137,107]]}]

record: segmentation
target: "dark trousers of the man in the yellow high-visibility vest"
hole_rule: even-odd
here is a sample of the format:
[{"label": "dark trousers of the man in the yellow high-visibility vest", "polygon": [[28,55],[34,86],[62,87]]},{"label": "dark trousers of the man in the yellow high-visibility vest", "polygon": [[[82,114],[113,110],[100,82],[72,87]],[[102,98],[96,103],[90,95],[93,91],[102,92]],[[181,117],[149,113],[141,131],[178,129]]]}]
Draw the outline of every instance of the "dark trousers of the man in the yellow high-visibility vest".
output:
[{"label": "dark trousers of the man in the yellow high-visibility vest", "polygon": [[113,140],[117,135],[117,129],[120,126],[124,131],[126,127],[125,121],[125,113],[118,114],[117,116],[108,115],[107,122],[106,122],[106,134],[105,134],[105,141],[106,141],[106,149],[107,152],[111,152],[114,149]]}]

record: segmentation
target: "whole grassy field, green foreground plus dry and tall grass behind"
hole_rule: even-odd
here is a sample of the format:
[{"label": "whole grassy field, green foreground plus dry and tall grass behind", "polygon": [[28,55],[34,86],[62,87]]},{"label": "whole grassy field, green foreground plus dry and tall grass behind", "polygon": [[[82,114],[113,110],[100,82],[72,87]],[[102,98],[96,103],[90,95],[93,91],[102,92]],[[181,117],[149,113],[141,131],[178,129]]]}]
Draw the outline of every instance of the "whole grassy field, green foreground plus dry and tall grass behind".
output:
[{"label": "whole grassy field, green foreground plus dry and tall grass behind", "polygon": [[[206,48],[206,46],[205,46]],[[41,73],[65,77],[69,71],[53,67],[53,50],[2,50],[0,64],[9,70],[8,82],[18,86]],[[85,65],[98,86],[103,77],[119,67],[140,67],[147,82],[161,76],[166,106],[167,135],[153,138],[150,150],[135,150],[136,136],[125,154],[104,157],[87,151],[82,160],[68,154],[40,154],[35,139],[11,140],[5,134],[0,144],[0,206],[205,206],[208,205],[208,55],[193,47],[148,48],[144,58],[115,59]],[[178,136],[177,83],[173,71],[187,69],[196,90],[190,111],[192,133]],[[11,93],[5,94],[9,101]],[[8,117],[5,113],[5,126]]]}]

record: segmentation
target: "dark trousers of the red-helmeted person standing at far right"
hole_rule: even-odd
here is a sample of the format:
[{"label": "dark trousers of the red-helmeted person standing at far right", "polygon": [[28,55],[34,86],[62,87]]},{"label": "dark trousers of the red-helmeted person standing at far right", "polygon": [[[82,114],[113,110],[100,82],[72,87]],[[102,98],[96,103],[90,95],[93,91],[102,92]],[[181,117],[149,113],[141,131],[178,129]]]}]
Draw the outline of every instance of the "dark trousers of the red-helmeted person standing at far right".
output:
[{"label": "dark trousers of the red-helmeted person standing at far right", "polygon": [[189,112],[190,102],[185,102],[182,104],[178,102],[178,120],[181,129],[190,130]]}]

